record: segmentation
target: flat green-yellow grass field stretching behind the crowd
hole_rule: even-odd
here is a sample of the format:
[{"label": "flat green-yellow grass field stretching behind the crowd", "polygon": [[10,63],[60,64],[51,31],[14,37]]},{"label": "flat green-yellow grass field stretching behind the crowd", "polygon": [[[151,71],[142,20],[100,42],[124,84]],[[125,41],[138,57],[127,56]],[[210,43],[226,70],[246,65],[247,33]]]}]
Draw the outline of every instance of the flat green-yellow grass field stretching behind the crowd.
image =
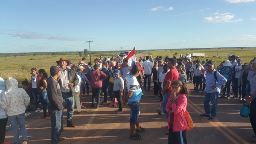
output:
[{"label": "flat green-yellow grass field stretching behind the crowd", "polygon": [[[143,51],[140,51],[143,52]],[[205,57],[201,58],[201,60],[205,60],[209,58],[213,60],[218,66],[219,63],[223,60],[227,60],[227,58],[215,58],[215,56],[229,56],[229,55],[239,55],[239,57],[243,60],[243,63],[249,62],[256,55],[256,48],[236,48],[236,49],[179,49],[179,50],[154,50],[148,51],[148,55],[152,55],[155,58],[157,55],[159,56],[170,56],[177,52],[177,56],[180,54],[186,55],[187,53],[205,53]],[[137,52],[138,54],[139,52]],[[217,54],[218,53],[218,54]],[[232,54],[230,54],[232,53]],[[234,53],[234,54],[233,54]],[[93,61],[95,58],[99,58],[102,56],[116,56],[119,52],[92,52],[91,60]],[[3,56],[1,55],[0,61],[2,62],[0,65],[0,74],[1,77],[6,81],[9,74],[10,77],[16,78],[19,83],[23,81],[25,78],[30,80],[31,74],[30,70],[32,67],[36,69],[45,69],[49,74],[50,66],[56,65],[56,60],[60,58],[67,58],[72,60],[72,62],[76,65],[82,57],[77,53],[70,53],[66,55],[24,55],[24,56]],[[90,60],[87,57],[86,62]],[[94,63],[93,63],[94,64]],[[15,75],[13,75],[15,73]],[[20,85],[21,86],[21,85]]]}]

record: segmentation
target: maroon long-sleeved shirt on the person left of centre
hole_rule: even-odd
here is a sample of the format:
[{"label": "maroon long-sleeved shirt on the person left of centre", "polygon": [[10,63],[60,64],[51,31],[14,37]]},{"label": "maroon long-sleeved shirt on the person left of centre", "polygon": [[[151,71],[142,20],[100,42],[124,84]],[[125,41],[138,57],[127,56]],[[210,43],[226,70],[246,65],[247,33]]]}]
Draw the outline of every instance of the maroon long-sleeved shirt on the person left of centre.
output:
[{"label": "maroon long-sleeved shirt on the person left of centre", "polygon": [[102,87],[102,80],[107,79],[108,76],[100,70],[94,70],[90,72],[90,78],[91,86],[94,89],[97,89],[99,87]]}]

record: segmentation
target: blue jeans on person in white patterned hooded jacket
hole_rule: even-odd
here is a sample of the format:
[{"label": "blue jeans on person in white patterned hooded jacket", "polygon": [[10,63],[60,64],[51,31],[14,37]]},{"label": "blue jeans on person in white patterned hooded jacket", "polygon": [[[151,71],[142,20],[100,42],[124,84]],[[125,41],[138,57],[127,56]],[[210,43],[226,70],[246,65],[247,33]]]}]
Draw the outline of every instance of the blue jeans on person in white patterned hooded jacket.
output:
[{"label": "blue jeans on person in white patterned hooded jacket", "polygon": [[15,143],[20,143],[20,134],[19,134],[19,127],[20,133],[22,135],[23,140],[28,140],[27,138],[27,131],[25,127],[25,112],[19,115],[13,115],[8,117],[9,121],[12,124],[12,132],[14,136]]}]

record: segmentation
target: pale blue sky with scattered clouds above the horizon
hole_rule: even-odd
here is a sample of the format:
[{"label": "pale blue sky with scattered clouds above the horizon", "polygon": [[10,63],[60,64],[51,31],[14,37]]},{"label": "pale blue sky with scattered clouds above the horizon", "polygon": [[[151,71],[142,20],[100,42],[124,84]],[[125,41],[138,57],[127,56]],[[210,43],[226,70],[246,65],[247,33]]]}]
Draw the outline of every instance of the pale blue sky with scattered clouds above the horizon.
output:
[{"label": "pale blue sky with scattered clouds above the horizon", "polygon": [[256,46],[255,0],[1,0],[0,53]]}]

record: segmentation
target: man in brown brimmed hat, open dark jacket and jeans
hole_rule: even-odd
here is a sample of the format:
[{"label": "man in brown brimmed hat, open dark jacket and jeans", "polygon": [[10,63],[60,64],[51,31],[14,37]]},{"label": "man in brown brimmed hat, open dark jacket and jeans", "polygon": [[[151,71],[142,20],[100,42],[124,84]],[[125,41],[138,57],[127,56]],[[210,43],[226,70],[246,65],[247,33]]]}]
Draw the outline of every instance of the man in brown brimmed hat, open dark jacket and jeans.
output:
[{"label": "man in brown brimmed hat, open dark jacket and jeans", "polygon": [[[73,112],[74,112],[74,93],[75,86],[78,84],[79,79],[76,75],[76,72],[73,69],[67,69],[67,65],[70,63],[66,58],[60,58],[60,60],[56,61],[61,68],[60,74],[60,86],[61,86],[61,94],[63,98],[63,107],[67,107],[67,127],[76,127],[72,123]],[[61,115],[61,132],[63,131],[63,113]]]}]

